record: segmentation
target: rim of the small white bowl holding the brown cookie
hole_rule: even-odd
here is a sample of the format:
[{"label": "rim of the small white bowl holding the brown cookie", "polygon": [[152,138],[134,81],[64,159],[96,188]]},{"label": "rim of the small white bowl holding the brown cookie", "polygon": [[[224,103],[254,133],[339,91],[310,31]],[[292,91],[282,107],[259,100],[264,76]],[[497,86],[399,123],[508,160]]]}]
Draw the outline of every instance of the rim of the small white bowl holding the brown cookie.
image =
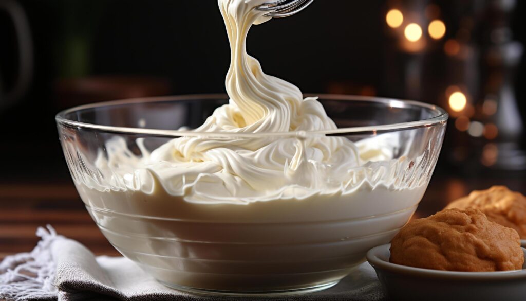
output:
[{"label": "rim of the small white bowl holding the brown cookie", "polygon": [[[448,280],[511,280],[526,277],[526,262],[520,270],[509,271],[487,271],[487,272],[470,272],[470,271],[444,271],[403,266],[390,263],[384,258],[389,253],[391,244],[374,247],[367,251],[367,261],[377,269],[384,269],[392,273],[402,274],[403,276],[418,276],[422,278],[448,279]],[[526,249],[521,248],[526,259]],[[390,254],[390,253],[389,253]]]}]

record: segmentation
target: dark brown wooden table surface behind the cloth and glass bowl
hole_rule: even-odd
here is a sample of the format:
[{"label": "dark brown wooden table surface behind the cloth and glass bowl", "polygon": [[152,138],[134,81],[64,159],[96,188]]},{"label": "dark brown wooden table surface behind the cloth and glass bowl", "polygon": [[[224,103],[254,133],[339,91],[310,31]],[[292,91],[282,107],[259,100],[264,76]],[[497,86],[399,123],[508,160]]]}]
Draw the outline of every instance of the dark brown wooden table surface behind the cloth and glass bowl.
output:
[{"label": "dark brown wooden table surface behind the cloth and glass bowl", "polygon": [[[432,179],[414,217],[426,217],[473,189],[506,185],[526,193],[524,179]],[[387,201],[387,200],[386,200]],[[413,218],[414,218],[413,217]],[[52,225],[97,255],[118,255],[95,226],[72,182],[54,184],[0,184],[0,258],[31,251],[37,227]]]}]

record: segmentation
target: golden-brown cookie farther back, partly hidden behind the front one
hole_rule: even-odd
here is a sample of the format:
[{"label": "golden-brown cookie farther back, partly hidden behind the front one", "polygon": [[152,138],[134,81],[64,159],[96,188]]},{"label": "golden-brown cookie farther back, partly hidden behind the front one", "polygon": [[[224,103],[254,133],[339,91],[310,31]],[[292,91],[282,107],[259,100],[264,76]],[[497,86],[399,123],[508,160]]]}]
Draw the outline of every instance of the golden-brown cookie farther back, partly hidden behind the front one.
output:
[{"label": "golden-brown cookie farther back, partly hidden behind the front one", "polygon": [[451,202],[446,209],[474,208],[484,212],[489,220],[513,228],[526,239],[526,197],[505,186],[472,191],[469,196]]}]

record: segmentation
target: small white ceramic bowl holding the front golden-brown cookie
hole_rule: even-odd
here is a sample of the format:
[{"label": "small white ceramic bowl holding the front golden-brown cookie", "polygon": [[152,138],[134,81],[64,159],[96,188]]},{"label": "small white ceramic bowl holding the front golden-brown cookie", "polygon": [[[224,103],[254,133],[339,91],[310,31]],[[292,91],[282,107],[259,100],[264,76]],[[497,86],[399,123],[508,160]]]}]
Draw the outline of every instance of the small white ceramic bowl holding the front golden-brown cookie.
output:
[{"label": "small white ceramic bowl holding the front golden-brown cookie", "polygon": [[494,272],[414,268],[390,263],[390,246],[370,249],[367,260],[393,300],[526,300],[526,264],[521,270]]}]

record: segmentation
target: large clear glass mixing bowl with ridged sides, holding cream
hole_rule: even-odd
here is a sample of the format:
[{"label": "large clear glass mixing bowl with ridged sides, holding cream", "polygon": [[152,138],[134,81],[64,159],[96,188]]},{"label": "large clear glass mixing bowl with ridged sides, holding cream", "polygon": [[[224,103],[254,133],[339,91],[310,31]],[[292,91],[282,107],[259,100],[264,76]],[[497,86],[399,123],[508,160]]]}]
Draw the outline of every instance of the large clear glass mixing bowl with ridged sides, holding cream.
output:
[{"label": "large clear glass mixing bowl with ridged sides, holding cream", "polygon": [[[151,276],[199,294],[291,295],[337,284],[369,249],[387,244],[406,224],[426,191],[448,119],[443,109],[415,101],[317,96],[337,130],[189,130],[228,102],[223,94],[84,105],[58,113],[56,122],[69,171],[90,215],[109,242]],[[166,173],[186,180],[195,174],[160,160],[155,164],[165,164],[164,174],[151,176],[149,167],[134,163],[180,137],[236,145],[279,142],[283,148],[301,148],[306,141],[352,141],[359,158],[348,160],[359,166],[338,174],[305,170],[303,176],[315,176],[309,185],[324,187],[316,193],[305,188],[305,177],[280,184],[281,176],[249,195],[226,184],[215,191],[204,174],[188,197],[174,193],[177,181],[159,179],[169,178]],[[116,152],[120,156],[109,166]],[[308,161],[308,151],[305,156]],[[235,169],[221,172],[236,176]],[[222,197],[223,190],[229,197]]]}]

